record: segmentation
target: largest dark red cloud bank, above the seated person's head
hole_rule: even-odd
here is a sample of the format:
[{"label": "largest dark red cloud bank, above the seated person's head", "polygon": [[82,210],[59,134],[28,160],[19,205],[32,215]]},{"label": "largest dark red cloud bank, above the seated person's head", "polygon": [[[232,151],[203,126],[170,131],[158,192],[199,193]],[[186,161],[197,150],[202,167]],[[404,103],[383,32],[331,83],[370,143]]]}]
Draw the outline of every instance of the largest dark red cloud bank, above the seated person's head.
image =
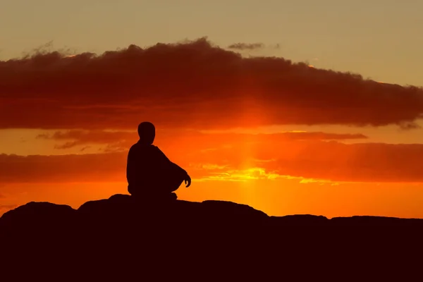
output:
[{"label": "largest dark red cloud bank, above the seated person's head", "polygon": [[228,129],[276,124],[415,127],[423,90],[243,58],[206,39],[0,61],[0,128]]}]

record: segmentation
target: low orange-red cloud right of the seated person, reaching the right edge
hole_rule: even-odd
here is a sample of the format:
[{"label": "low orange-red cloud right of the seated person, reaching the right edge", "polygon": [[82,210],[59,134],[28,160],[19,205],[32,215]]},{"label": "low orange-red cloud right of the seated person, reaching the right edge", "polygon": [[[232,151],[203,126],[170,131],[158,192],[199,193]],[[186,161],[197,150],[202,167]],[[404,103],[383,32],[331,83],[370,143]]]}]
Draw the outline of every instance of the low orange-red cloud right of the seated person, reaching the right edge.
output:
[{"label": "low orange-red cloud right of the seated person, reaching the right edge", "polygon": [[[250,152],[249,157],[244,153]],[[219,156],[225,156],[221,158]],[[274,146],[219,149],[202,152],[216,166],[235,171],[264,168],[266,173],[345,182],[422,183],[423,145],[384,143],[343,144],[340,142],[286,142]],[[225,173],[225,169],[215,171]]]}]

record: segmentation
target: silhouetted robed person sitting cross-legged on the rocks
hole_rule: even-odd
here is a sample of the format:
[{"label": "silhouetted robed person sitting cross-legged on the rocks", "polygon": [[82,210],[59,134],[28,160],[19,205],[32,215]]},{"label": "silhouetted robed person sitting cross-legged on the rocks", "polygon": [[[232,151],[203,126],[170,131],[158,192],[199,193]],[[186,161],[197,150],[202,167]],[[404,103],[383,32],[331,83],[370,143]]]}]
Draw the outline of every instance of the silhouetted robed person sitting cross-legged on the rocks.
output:
[{"label": "silhouetted robed person sitting cross-legged on the rocks", "polygon": [[128,192],[146,200],[176,199],[173,191],[177,190],[183,181],[188,188],[191,185],[190,176],[153,145],[156,128],[152,123],[140,123],[138,135],[140,140],[130,147],[128,152]]}]

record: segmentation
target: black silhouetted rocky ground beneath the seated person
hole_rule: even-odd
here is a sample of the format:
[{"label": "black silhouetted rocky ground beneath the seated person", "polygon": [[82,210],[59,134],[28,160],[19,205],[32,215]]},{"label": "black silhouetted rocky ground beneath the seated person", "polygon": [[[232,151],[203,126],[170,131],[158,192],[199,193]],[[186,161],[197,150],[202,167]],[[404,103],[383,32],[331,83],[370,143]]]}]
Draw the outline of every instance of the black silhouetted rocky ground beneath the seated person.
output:
[{"label": "black silhouetted rocky ground beneath the seated person", "polygon": [[0,218],[4,270],[33,278],[22,270],[32,267],[78,281],[379,280],[419,262],[411,258],[421,256],[422,235],[423,219],[268,216],[233,202],[141,203],[130,195],[78,209],[30,202]]}]

